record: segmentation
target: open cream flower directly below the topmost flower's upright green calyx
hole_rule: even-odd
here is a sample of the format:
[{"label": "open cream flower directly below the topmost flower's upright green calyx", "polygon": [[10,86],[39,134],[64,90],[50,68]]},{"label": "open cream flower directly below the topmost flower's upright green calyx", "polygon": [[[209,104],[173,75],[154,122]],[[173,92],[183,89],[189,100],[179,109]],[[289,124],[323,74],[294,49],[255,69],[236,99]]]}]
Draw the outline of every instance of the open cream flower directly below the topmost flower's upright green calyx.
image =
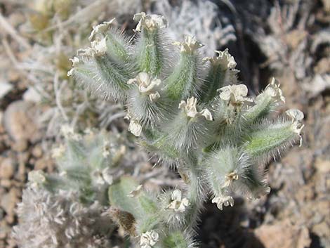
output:
[{"label": "open cream flower directly below the topmost flower's upright green calyx", "polygon": [[161,80],[151,79],[146,72],[140,72],[135,79],[129,79],[127,84],[138,84],[140,93],[147,93],[152,102],[160,98],[158,91],[155,91],[154,88],[161,84]]}]

